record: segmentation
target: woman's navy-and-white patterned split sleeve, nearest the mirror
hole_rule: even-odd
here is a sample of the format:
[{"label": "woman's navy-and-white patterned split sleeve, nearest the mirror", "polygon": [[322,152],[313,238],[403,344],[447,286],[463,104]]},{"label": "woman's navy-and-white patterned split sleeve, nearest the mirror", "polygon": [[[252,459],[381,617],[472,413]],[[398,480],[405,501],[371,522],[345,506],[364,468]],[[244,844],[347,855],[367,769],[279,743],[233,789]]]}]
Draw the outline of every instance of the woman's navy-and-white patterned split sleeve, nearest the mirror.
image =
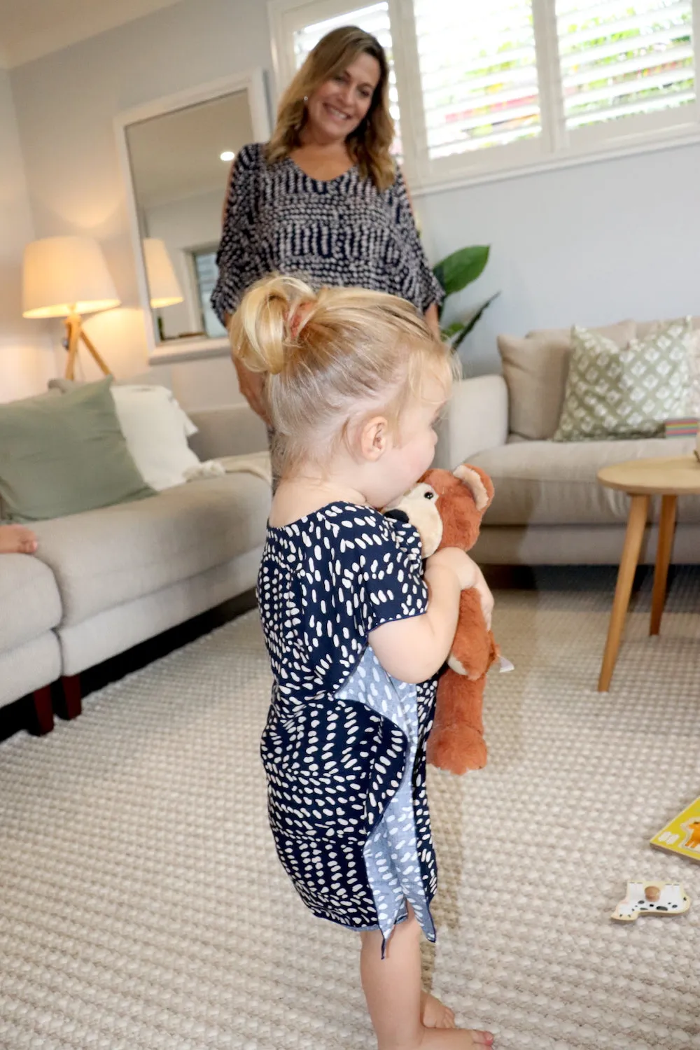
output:
[{"label": "woman's navy-and-white patterned split sleeve, nearest the mirror", "polygon": [[216,253],[218,277],[211,304],[221,324],[238,308],[246,290],[259,276],[251,267],[255,258],[258,213],[257,171],[262,147],[249,145],[238,153],[229,180],[221,240]]}]

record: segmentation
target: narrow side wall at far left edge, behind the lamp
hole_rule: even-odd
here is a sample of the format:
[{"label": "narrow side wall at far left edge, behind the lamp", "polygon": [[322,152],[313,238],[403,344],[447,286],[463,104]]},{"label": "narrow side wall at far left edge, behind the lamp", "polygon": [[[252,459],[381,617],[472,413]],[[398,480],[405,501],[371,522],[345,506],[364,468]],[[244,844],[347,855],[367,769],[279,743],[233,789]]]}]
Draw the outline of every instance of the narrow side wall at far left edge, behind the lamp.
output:
[{"label": "narrow side wall at far left edge, behind the lamp", "polygon": [[46,388],[56,361],[45,324],[22,319],[22,253],[34,237],[9,75],[0,68],[0,401]]}]

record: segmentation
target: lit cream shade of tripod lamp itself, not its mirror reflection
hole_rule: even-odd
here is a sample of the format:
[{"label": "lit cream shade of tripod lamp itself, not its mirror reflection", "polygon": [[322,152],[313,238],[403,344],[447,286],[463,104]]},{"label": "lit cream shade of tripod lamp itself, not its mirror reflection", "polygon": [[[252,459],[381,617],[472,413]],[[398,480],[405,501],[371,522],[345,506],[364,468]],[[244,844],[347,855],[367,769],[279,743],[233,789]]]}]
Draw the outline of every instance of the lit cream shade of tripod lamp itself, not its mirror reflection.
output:
[{"label": "lit cream shade of tripod lamp itself, not its mirror reflection", "polygon": [[119,307],[93,237],[44,237],[24,249],[23,317],[67,317]]}]

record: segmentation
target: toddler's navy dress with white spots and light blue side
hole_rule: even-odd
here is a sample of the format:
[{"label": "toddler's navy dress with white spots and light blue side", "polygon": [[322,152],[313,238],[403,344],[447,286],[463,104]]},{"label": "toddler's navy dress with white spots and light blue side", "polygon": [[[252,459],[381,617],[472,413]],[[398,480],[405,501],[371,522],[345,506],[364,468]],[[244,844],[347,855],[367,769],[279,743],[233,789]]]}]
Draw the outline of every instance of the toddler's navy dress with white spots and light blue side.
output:
[{"label": "toddler's navy dress with white spots and light blue side", "polygon": [[274,685],[261,755],[279,859],[323,919],[386,939],[408,901],[434,940],[425,744],[437,678],[391,677],[367,645],[425,612],[421,541],[332,503],[268,528],[258,604]]}]

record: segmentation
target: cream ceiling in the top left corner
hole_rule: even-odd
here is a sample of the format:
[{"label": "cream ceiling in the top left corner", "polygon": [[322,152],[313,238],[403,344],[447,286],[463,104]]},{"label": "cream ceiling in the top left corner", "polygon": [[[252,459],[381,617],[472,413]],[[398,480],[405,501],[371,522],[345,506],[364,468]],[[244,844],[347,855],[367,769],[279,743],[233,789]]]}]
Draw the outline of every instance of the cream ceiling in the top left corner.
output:
[{"label": "cream ceiling in the top left corner", "polygon": [[179,0],[0,0],[0,66],[17,66]]}]

